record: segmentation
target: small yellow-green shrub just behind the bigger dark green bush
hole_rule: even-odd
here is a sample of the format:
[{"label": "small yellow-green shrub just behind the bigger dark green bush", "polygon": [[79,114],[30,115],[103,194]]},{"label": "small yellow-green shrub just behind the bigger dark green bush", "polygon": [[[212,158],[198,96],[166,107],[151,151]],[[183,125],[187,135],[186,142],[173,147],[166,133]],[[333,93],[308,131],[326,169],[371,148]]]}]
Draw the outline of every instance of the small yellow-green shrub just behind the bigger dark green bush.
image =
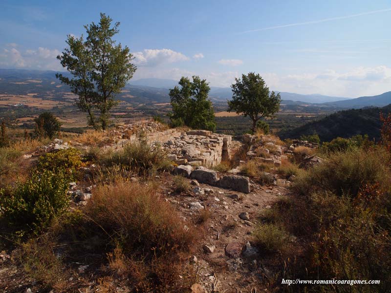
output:
[{"label": "small yellow-green shrub just behind the bigger dark green bush", "polygon": [[61,149],[41,156],[38,161],[38,168],[53,172],[65,170],[68,174],[73,174],[82,165],[81,157],[81,152],[76,148]]}]

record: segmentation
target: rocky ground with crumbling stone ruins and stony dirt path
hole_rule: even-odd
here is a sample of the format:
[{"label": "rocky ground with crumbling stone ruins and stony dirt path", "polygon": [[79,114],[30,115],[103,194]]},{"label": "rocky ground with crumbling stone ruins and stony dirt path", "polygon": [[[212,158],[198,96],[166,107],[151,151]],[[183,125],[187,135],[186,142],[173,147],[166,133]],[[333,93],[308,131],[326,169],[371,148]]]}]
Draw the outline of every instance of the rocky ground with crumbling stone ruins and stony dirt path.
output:
[{"label": "rocky ground with crumbling stone ruins and stony dirt path", "polygon": [[[230,136],[216,135],[208,131],[164,130],[152,121],[120,126],[114,131],[108,135],[110,139],[102,147],[119,148],[128,141],[137,140],[139,134],[145,132],[148,141],[154,147],[161,147],[168,151],[171,160],[176,163],[174,174],[188,177],[186,180],[191,184],[190,190],[177,193],[174,191],[174,174],[157,175],[166,200],[180,212],[184,225],[201,213],[205,215],[206,221],[203,224],[205,237],[201,237],[196,243],[195,254],[189,259],[197,276],[192,291],[194,293],[253,293],[262,290],[270,292],[267,284],[274,278],[271,268],[273,263],[254,245],[252,232],[259,221],[261,210],[270,209],[279,197],[289,195],[287,188],[290,182],[273,173],[273,168],[281,164],[283,147],[273,141],[267,141],[262,147],[262,151],[267,153],[268,146],[273,149],[273,156],[268,160],[271,160],[272,166],[270,176],[274,178],[271,184],[262,185],[240,175],[238,160],[238,166],[233,166],[233,169],[227,173],[209,169],[220,163],[222,159],[227,160],[235,156],[242,146],[242,142],[231,142]],[[32,160],[43,151],[70,146],[81,149],[89,147],[77,140],[67,143],[55,140],[34,153],[26,154],[25,158]],[[246,158],[266,160],[257,157],[259,151],[259,148],[250,149]],[[199,165],[206,167],[199,167]],[[233,175],[235,173],[239,175]],[[136,181],[138,178],[131,178],[131,180]],[[69,194],[78,205],[86,204],[88,199],[93,197],[93,185],[87,181],[71,183]],[[42,288],[33,279],[26,278],[22,268],[10,260],[10,255],[12,251],[0,253],[1,292],[42,292]],[[80,282],[79,291],[98,292],[91,268],[88,269],[83,263],[74,266],[77,270],[72,278]],[[181,277],[183,276],[178,276]],[[117,289],[118,292],[126,292],[126,288],[121,286]]]}]

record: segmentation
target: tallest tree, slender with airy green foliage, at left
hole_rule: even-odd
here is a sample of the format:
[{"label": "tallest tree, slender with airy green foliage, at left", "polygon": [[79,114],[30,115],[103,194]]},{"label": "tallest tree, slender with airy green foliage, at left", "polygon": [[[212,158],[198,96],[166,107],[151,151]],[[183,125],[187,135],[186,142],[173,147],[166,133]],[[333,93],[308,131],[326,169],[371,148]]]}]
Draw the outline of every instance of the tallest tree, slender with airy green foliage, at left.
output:
[{"label": "tallest tree, slender with airy green foliage, at left", "polygon": [[[116,44],[112,37],[119,32],[119,22],[111,27],[112,19],[104,13],[100,14],[100,22],[85,25],[87,39],[68,35],[62,55],[57,56],[73,78],[56,74],[71,91],[79,96],[76,105],[88,113],[88,124],[94,128],[99,126],[105,130],[109,123],[110,109],[116,105],[115,94],[121,91],[132,78],[136,66],[128,46]],[[98,110],[99,118],[94,111]]]}]

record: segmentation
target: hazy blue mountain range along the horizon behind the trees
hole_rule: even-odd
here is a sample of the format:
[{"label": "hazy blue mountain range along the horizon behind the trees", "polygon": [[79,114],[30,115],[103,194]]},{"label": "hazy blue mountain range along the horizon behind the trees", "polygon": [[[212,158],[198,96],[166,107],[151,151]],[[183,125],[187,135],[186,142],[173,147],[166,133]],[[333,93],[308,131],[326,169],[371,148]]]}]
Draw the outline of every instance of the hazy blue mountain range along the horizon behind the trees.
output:
[{"label": "hazy blue mountain range along the horizon behind the trees", "polygon": [[[61,72],[66,76],[69,76],[68,72]],[[55,81],[56,84],[59,81],[55,77],[55,71],[41,71],[41,70],[24,70],[24,69],[0,69],[0,92],[22,93],[26,90],[33,90],[36,92],[37,87],[32,89],[31,84],[20,84],[26,80],[43,80],[45,90],[57,91],[58,88],[55,85],[49,83]],[[13,83],[13,84],[12,84]],[[18,83],[18,84],[15,84]],[[130,84],[126,86],[129,90],[127,94],[119,95],[119,99],[125,99],[128,101],[134,101],[137,103],[167,103],[170,101],[168,95],[169,89],[173,88],[177,84],[177,81],[170,79],[156,79],[146,78],[139,80],[131,80]],[[61,88],[61,91],[65,90],[65,86]],[[313,95],[301,95],[289,92],[280,92],[282,97],[282,104],[285,105],[301,105],[301,104],[315,104],[318,106],[333,107],[336,109],[343,108],[362,108],[367,106],[382,107],[391,103],[391,92],[387,92],[381,95],[372,97],[360,97],[356,99],[349,99],[344,97],[331,97],[319,94]],[[225,103],[232,97],[232,91],[229,87],[211,87],[210,98],[215,103]],[[131,96],[131,97],[130,97]]]}]

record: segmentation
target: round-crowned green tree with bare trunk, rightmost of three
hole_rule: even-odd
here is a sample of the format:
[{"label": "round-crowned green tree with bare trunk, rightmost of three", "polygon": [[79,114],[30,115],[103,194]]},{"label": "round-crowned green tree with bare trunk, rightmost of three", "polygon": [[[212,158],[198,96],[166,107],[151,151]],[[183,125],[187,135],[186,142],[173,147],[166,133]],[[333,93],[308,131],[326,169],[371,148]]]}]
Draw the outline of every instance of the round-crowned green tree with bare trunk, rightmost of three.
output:
[{"label": "round-crowned green tree with bare trunk, rightmost of three", "polygon": [[272,117],[280,108],[281,97],[269,88],[259,74],[250,72],[236,78],[232,84],[232,100],[228,102],[228,112],[236,111],[253,121],[251,130],[256,130],[257,122],[264,117]]}]

